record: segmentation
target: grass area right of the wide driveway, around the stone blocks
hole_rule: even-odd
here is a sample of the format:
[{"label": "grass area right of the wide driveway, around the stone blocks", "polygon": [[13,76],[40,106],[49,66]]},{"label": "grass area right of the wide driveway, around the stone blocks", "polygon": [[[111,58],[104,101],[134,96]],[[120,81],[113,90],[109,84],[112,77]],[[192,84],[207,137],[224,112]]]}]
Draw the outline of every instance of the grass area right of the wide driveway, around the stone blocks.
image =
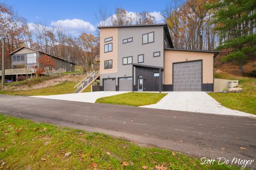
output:
[{"label": "grass area right of the wide driveway, around the stone blocks", "polygon": [[242,112],[256,114],[256,79],[235,77],[230,74],[215,74],[215,78],[239,80],[239,85],[242,86],[241,93],[208,93],[215,100],[227,108],[235,109]]}]

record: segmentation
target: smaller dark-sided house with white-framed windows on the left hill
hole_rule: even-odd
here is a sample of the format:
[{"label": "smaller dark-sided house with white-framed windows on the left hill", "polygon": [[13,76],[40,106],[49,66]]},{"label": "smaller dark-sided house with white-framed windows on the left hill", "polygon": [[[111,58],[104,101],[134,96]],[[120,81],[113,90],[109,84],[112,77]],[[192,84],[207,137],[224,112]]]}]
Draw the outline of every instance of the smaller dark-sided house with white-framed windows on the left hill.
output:
[{"label": "smaller dark-sided house with white-framed windows on the left hill", "polygon": [[55,60],[55,68],[54,70],[65,69],[66,71],[74,71],[75,63],[63,60],[59,57],[46,54],[36,49],[28,48],[28,47],[20,47],[14,52],[10,53],[12,60],[12,68],[31,68],[33,65],[37,65],[40,67],[38,63],[38,57],[42,55],[51,56]]}]

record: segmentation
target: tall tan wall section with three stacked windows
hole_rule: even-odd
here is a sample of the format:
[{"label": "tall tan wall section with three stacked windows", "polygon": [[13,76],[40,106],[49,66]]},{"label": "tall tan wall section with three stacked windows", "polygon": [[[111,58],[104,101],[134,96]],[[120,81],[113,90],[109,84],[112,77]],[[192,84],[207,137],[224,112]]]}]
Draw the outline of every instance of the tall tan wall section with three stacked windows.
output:
[{"label": "tall tan wall section with three stacked windows", "polygon": [[[113,37],[112,41],[104,42],[105,38]],[[113,43],[112,52],[104,53],[104,45]],[[113,60],[112,69],[104,69],[104,61]],[[118,28],[100,29],[100,74],[117,73],[118,63]]]}]

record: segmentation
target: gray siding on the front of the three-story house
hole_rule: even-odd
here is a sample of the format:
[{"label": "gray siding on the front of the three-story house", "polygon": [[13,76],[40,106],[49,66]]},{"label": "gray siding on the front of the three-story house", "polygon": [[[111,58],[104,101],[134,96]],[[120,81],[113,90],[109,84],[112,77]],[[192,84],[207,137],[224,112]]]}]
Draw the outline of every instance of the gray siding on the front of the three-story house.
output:
[{"label": "gray siding on the front of the three-story house", "polygon": [[[153,31],[154,43],[142,45],[142,35]],[[123,39],[130,37],[133,37],[133,41],[131,43],[123,44]],[[123,57],[133,56],[133,63],[138,63],[138,55],[144,54],[144,62],[140,64],[164,67],[163,41],[163,27],[118,28],[118,72],[101,74],[100,86],[102,86],[102,79],[116,78],[116,85],[118,85],[118,77],[132,76],[132,65],[123,65]],[[154,52],[160,52],[161,56],[153,57]]]}]

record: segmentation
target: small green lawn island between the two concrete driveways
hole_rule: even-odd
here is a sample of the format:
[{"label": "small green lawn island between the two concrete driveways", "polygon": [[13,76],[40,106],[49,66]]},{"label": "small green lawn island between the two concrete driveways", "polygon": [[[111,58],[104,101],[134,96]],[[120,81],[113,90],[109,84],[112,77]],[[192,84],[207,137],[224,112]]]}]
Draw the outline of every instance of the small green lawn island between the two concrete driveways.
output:
[{"label": "small green lawn island between the two concrete driveways", "polygon": [[121,95],[103,97],[95,103],[107,103],[114,105],[143,106],[157,103],[167,94],[157,94],[149,92],[127,92]]}]

